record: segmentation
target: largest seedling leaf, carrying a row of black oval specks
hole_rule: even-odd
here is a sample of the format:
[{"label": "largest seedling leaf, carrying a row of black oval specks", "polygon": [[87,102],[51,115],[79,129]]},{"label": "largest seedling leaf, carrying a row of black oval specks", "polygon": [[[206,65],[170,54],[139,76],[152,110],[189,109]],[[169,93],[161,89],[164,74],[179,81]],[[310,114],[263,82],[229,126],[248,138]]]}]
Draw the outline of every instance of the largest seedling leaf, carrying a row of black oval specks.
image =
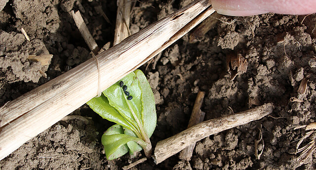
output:
[{"label": "largest seedling leaf, carrying a row of black oval specks", "polygon": [[[123,81],[124,85],[127,86],[127,91],[133,97],[132,100],[127,100],[127,96],[124,95],[124,91],[119,86],[120,81]],[[152,136],[156,128],[157,115],[154,94],[146,76],[141,70],[135,70],[120,81],[106,89],[103,92],[104,95],[109,99],[110,105],[117,109],[123,117],[127,117],[126,119],[134,125],[135,119],[138,119],[147,136]],[[133,117],[132,111],[136,118]],[[137,124],[135,126],[138,127]]]}]

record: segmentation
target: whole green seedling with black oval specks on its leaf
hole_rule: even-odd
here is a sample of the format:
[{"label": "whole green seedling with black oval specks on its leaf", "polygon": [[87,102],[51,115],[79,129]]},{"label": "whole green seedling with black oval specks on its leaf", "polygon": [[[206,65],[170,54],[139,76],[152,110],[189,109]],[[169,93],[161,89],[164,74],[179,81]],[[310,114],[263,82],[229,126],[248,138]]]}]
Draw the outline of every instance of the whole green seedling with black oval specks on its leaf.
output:
[{"label": "whole green seedling with black oval specks on its leaf", "polygon": [[87,104],[104,119],[117,123],[102,135],[107,158],[116,159],[144,149],[151,156],[149,137],[156,128],[153,91],[141,70],[135,70]]}]

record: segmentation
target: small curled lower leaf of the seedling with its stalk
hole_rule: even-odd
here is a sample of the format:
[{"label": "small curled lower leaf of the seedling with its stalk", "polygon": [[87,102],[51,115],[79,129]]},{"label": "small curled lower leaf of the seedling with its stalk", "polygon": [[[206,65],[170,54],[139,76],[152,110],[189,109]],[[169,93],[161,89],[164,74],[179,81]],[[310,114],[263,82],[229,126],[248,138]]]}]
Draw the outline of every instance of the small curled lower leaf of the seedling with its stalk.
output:
[{"label": "small curled lower leaf of the seedling with its stalk", "polygon": [[[137,142],[141,144],[143,147],[146,147],[146,145],[148,145],[146,142],[144,142],[138,137],[121,134],[123,133],[123,129],[119,125],[114,125],[114,126],[116,127],[113,128],[112,126],[109,128],[108,131],[110,133],[103,134],[101,138],[102,144],[104,145],[105,154],[108,160],[113,160],[126,154],[128,152],[128,147],[126,143],[129,141]],[[119,126],[120,128],[118,128],[117,126]],[[118,129],[119,129],[119,133],[116,132]]]}]

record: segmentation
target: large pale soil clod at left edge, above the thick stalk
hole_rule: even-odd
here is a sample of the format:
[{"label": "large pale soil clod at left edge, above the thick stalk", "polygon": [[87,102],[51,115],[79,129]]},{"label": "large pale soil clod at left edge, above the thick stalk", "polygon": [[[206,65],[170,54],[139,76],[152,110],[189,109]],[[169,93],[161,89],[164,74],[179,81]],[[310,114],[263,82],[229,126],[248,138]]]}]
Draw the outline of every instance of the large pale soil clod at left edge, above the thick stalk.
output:
[{"label": "large pale soil clod at left edge, above the thick stalk", "polygon": [[0,71],[5,75],[6,81],[38,82],[48,66],[40,62],[28,60],[29,55],[49,54],[43,42],[39,39],[27,41],[23,34],[4,32],[0,30]]}]

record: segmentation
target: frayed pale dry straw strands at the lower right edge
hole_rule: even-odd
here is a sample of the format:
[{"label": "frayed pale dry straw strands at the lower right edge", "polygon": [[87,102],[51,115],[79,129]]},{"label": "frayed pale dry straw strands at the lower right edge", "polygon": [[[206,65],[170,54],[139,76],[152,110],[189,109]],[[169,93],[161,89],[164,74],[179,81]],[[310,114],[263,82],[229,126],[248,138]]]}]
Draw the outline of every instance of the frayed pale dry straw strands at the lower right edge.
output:
[{"label": "frayed pale dry straw strands at the lower right edge", "polygon": [[[305,128],[305,131],[309,131],[296,144],[295,154],[302,152],[301,155],[297,158],[297,162],[300,165],[302,165],[316,150],[316,122],[312,122],[309,125],[296,127],[294,128],[294,130],[300,129],[300,128]],[[302,142],[304,141],[304,139],[306,139],[307,137],[311,135],[313,136],[312,140],[305,146],[299,148]]]}]

